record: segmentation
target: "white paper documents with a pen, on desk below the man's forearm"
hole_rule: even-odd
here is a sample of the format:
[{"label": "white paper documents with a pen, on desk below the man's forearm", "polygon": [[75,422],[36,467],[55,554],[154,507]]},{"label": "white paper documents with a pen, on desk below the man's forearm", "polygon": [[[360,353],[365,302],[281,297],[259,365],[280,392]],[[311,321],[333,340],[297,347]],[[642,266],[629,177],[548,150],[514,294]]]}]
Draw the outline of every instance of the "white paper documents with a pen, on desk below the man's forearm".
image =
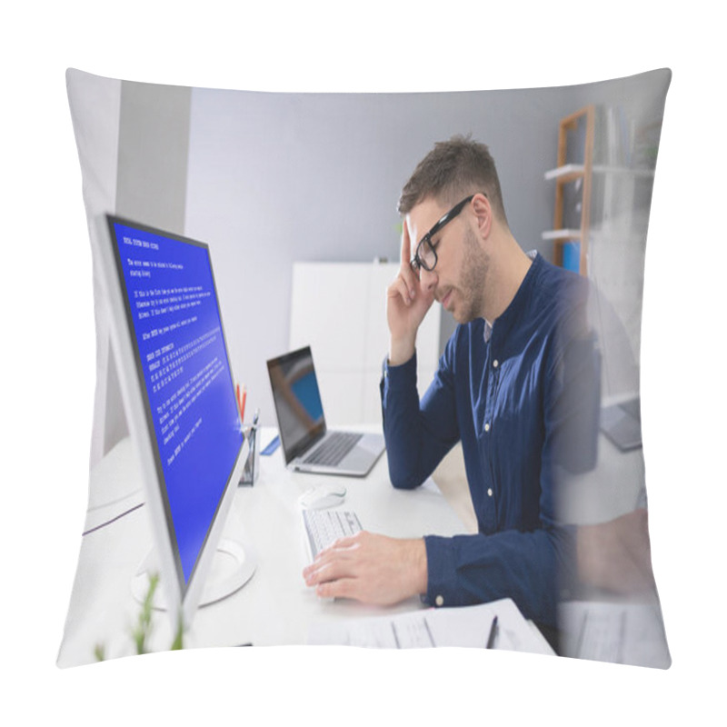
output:
[{"label": "white paper documents with a pen, on desk below the man's forearm", "polygon": [[497,616],[495,649],[550,653],[553,649],[511,599],[458,608],[423,609],[393,616],[319,621],[308,643],[343,644],[374,649],[421,649],[465,646],[484,649]]}]

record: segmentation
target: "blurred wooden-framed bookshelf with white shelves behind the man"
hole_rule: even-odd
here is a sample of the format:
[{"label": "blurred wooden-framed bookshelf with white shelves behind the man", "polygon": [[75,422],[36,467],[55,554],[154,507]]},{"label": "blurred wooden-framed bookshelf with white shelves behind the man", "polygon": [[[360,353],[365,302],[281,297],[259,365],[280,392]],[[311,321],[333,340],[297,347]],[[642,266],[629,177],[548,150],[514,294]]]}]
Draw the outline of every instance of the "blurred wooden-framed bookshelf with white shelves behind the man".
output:
[{"label": "blurred wooden-framed bookshelf with white shelves behind the man", "polygon": [[555,264],[587,275],[599,292],[594,315],[607,342],[603,371],[614,391],[633,380],[640,361],[643,268],[661,128],[661,109],[638,99],[585,106],[561,119],[557,166],[543,174],[555,187],[553,229],[543,232],[543,240],[553,242]]}]

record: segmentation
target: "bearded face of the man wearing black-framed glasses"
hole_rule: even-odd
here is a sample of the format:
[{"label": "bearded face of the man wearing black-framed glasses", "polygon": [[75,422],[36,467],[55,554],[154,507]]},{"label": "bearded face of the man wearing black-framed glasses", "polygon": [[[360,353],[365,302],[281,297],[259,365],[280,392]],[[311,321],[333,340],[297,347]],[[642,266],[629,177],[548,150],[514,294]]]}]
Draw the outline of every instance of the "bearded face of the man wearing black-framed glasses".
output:
[{"label": "bearded face of the man wearing black-framed glasses", "polygon": [[[433,199],[417,204],[408,215],[412,254],[423,235],[447,212]],[[464,324],[483,317],[489,259],[477,235],[476,218],[468,204],[432,239],[437,263],[433,271],[421,270],[422,288],[432,291],[443,307]]]}]

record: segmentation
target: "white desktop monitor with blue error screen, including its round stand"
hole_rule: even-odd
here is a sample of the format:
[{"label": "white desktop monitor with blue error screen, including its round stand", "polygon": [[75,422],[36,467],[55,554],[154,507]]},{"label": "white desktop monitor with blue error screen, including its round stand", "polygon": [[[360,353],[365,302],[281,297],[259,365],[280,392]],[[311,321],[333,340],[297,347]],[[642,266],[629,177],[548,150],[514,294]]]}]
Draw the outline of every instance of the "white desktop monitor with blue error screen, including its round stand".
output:
[{"label": "white desktop monitor with blue error screen, including its round stand", "polygon": [[134,595],[143,600],[155,571],[155,606],[186,626],[254,573],[249,548],[221,540],[248,447],[210,251],[113,215],[101,227],[112,345],[154,535]]}]

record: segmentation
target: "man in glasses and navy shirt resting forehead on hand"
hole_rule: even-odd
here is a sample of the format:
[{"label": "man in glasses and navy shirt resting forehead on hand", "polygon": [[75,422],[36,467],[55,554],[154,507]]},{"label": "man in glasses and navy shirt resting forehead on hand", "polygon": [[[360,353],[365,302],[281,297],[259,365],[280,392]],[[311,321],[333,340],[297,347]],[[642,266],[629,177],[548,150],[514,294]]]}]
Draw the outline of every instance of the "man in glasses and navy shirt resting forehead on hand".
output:
[{"label": "man in glasses and navy shirt resting forehead on hand", "polygon": [[[582,415],[593,407],[583,403],[593,399],[597,411],[598,402],[585,283],[523,253],[483,144],[436,144],[399,211],[402,264],[387,293],[381,385],[389,473],[394,487],[417,487],[461,440],[479,533],[359,533],[304,578],[323,597],[368,603],[512,597],[526,617],[555,625],[558,575],[574,557],[573,533],[556,524],[556,479],[593,464],[593,448],[582,446],[590,435],[571,444],[593,430]],[[420,403],[416,334],[434,300],[460,325]]]}]

